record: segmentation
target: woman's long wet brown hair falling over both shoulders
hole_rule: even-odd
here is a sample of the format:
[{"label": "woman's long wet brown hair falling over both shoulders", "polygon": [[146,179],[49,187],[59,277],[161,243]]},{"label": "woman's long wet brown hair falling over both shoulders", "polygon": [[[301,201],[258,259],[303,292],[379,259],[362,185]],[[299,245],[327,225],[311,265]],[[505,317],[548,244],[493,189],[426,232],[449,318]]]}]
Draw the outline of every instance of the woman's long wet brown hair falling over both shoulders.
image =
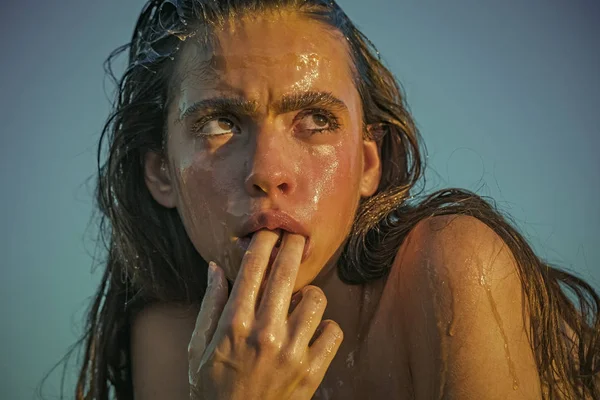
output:
[{"label": "woman's long wet brown hair falling over both shoulders", "polygon": [[[106,400],[111,392],[118,400],[133,398],[132,316],[152,302],[199,303],[205,290],[206,261],[176,210],[154,201],[144,182],[144,156],[165,152],[166,109],[178,50],[190,41],[211,43],[216,29],[240,16],[277,10],[320,21],[345,38],[363,122],[374,127],[365,129],[365,135],[381,149],[381,182],[359,205],[339,262],[341,279],[361,284],[384,277],[407,234],[426,218],[475,217],[506,242],[516,260],[545,398],[600,398],[597,293],[536,256],[493,201],[461,189],[430,195],[417,190],[424,179],[424,146],[400,86],[373,44],[334,1],[152,0],[144,6],[131,42],[105,63],[117,85],[98,146],[96,201],[107,256],[84,335],[69,352],[84,345],[76,399]],[[127,68],[117,79],[112,63],[124,52]],[[574,338],[566,334],[565,324]]]}]

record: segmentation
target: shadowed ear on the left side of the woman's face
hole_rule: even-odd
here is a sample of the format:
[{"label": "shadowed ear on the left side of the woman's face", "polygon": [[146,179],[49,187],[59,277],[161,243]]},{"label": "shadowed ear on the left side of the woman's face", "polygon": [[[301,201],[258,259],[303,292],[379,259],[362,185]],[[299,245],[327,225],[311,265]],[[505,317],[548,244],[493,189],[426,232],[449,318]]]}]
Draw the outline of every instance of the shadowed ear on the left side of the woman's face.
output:
[{"label": "shadowed ear on the left side of the woman's face", "polygon": [[144,180],[150,194],[158,204],[174,208],[176,206],[176,192],[173,177],[169,171],[164,157],[156,152],[149,151],[144,158]]}]

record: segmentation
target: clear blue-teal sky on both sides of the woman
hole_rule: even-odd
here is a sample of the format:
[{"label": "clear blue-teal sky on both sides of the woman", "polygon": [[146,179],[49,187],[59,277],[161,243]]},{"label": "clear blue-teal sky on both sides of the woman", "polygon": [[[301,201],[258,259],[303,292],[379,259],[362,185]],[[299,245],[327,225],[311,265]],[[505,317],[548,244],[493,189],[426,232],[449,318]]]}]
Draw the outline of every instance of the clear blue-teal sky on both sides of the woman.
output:
[{"label": "clear blue-teal sky on both sides of the woman", "polygon": [[[86,179],[109,111],[102,62],[129,40],[142,4],[0,2],[2,399],[32,399],[81,333],[99,282]],[[406,89],[429,149],[429,190],[492,196],[539,255],[596,288],[599,4],[341,1]]]}]

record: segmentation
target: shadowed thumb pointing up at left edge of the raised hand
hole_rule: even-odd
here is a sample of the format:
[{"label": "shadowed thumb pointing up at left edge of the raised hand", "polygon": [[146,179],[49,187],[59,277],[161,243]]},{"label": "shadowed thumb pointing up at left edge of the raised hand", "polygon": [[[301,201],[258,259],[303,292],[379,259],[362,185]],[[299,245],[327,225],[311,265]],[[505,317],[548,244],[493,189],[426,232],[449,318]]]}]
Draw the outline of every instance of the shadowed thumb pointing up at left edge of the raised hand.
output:
[{"label": "shadowed thumb pointing up at left edge of the raised hand", "polygon": [[[211,261],[208,276],[206,293],[202,299],[194,332],[188,345],[190,374],[197,371],[200,366],[202,355],[214,336],[217,323],[225,303],[227,303],[227,280],[223,270]],[[192,378],[191,375],[190,378]]]}]

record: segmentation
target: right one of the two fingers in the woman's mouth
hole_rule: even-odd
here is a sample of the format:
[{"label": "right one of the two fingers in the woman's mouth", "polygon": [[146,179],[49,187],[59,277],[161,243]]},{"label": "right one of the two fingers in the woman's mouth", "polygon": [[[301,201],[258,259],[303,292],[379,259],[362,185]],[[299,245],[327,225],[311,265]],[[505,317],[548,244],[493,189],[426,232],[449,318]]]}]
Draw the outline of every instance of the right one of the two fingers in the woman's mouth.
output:
[{"label": "right one of the two fingers in the woman's mouth", "polygon": [[284,321],[287,318],[305,242],[306,238],[302,235],[283,234],[279,253],[273,262],[265,293],[258,308],[256,315],[258,320]]}]

